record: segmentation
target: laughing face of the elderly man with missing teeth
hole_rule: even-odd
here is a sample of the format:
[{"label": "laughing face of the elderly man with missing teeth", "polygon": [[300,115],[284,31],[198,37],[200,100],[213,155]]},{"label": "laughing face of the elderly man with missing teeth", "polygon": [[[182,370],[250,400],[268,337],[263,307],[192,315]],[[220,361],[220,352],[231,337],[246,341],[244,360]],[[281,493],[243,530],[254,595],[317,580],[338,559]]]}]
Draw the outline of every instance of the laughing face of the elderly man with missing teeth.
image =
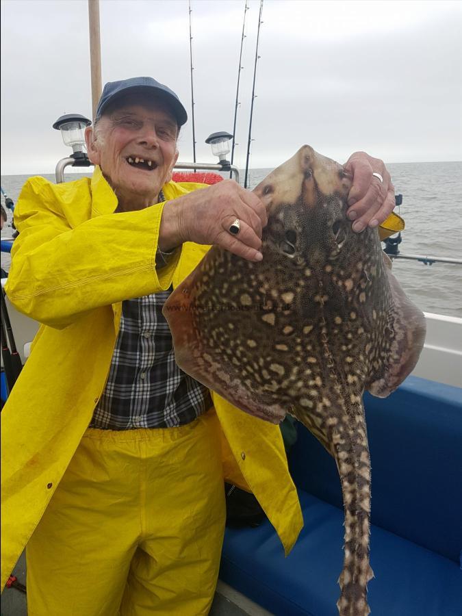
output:
[{"label": "laughing face of the elderly man with missing teeth", "polygon": [[177,123],[164,106],[126,101],[103,115],[94,131],[87,129],[88,157],[101,167],[116,194],[155,199],[172,177],[177,133]]}]

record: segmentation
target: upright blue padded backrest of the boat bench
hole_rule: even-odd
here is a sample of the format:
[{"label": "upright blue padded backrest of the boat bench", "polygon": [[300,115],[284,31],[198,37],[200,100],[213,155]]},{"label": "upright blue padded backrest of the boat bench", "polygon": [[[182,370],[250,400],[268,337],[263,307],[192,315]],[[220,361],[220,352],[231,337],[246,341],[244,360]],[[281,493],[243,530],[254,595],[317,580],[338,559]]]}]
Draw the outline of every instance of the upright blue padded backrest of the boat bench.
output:
[{"label": "upright blue padded backrest of the boat bench", "polygon": [[[459,387],[409,376],[389,398],[364,396],[372,465],[372,524],[458,564],[462,550],[461,393]],[[335,462],[301,424],[290,466],[298,489],[343,509]]]}]

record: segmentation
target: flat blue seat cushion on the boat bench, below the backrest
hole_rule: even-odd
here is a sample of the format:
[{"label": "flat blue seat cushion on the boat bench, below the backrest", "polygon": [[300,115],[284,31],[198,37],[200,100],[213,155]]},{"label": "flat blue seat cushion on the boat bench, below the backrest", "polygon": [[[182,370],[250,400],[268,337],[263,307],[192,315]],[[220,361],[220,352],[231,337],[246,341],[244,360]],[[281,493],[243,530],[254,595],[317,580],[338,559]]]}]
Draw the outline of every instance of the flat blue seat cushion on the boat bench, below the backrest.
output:
[{"label": "flat blue seat cushion on the boat bench, below the backrest", "polygon": [[[220,579],[276,616],[338,616],[344,516],[304,491],[299,496],[305,527],[287,559],[268,520],[227,528]],[[459,564],[372,526],[371,565],[373,616],[461,615]]]}]

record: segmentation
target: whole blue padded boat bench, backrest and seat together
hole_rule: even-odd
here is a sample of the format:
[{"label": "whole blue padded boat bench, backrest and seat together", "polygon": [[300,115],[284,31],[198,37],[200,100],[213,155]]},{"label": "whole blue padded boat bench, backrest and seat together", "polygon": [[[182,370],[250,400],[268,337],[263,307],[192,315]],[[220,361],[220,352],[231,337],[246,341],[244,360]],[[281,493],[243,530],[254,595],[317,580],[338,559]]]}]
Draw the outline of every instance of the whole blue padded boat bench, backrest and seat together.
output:
[{"label": "whole blue padded boat bench, backrest and seat together", "polygon": [[[372,459],[372,616],[460,616],[462,389],[411,376],[365,395]],[[298,424],[290,468],[305,526],[285,558],[266,520],[227,528],[220,579],[276,616],[338,616],[342,493],[333,459]]]}]

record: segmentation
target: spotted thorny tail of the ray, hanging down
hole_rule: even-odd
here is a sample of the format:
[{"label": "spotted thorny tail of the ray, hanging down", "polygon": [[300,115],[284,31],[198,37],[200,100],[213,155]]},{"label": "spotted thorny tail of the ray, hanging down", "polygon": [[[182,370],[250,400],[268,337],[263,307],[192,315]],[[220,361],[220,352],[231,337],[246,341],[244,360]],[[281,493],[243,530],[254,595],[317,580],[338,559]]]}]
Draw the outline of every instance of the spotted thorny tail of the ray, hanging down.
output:
[{"label": "spotted thorny tail of the ray, hanging down", "polygon": [[337,607],[340,616],[368,616],[367,583],[374,576],[369,563],[370,457],[363,409],[352,417],[354,425],[345,426],[347,433],[334,437],[345,511],[344,567]]}]

